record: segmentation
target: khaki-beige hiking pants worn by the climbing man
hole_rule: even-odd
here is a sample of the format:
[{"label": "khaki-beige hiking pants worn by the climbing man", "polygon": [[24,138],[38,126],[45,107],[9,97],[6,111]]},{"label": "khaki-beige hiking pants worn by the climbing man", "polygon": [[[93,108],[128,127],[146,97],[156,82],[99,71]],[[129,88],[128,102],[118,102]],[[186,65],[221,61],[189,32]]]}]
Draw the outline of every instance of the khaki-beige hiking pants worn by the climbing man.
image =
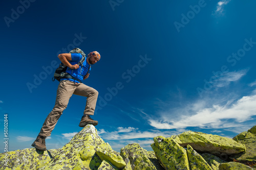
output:
[{"label": "khaki-beige hiking pants worn by the climbing man", "polygon": [[72,94],[86,96],[86,108],[84,109],[83,114],[94,114],[98,98],[98,91],[83,83],[75,84],[69,80],[61,80],[57,89],[55,106],[46,117],[45,123],[42,125],[39,135],[51,136],[52,130],[58,122],[58,119],[63,110],[67,108],[69,99],[71,98]]}]

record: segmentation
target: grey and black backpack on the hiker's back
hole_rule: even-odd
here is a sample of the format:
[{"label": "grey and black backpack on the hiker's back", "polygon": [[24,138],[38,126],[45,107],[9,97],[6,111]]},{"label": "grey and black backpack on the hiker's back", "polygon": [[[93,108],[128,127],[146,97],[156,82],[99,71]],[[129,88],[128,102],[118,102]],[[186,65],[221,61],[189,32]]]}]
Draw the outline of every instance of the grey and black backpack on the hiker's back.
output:
[{"label": "grey and black backpack on the hiker's back", "polygon": [[[82,50],[80,50],[80,48],[74,48],[69,53],[80,53],[82,55],[82,58],[77,64],[79,66],[80,65],[83,66],[83,61],[86,59],[86,55],[83,53]],[[74,80],[77,80],[77,81],[81,82],[80,80],[78,80],[78,79],[74,78],[73,76],[69,75],[68,72],[66,72],[67,68],[68,68],[68,66],[61,62],[59,64],[59,67],[54,72],[52,81],[55,81],[55,79],[57,81],[60,81],[60,79],[63,79],[63,78],[70,78],[70,79],[74,79]],[[89,69],[88,69],[88,71],[89,71]],[[81,71],[82,71],[82,69],[81,69]]]}]

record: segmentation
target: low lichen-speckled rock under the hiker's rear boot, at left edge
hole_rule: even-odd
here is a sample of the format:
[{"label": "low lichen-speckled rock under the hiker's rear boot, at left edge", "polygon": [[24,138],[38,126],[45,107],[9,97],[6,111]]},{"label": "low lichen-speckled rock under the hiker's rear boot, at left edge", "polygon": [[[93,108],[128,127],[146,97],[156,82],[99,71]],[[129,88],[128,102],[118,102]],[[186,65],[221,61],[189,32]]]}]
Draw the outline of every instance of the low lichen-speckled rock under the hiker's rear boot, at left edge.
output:
[{"label": "low lichen-speckled rock under the hiker's rear boot, at left edge", "polygon": [[[8,158],[7,166],[4,164],[6,154]],[[36,169],[49,163],[54,154],[55,150],[38,151],[35,148],[1,153],[0,169]]]}]

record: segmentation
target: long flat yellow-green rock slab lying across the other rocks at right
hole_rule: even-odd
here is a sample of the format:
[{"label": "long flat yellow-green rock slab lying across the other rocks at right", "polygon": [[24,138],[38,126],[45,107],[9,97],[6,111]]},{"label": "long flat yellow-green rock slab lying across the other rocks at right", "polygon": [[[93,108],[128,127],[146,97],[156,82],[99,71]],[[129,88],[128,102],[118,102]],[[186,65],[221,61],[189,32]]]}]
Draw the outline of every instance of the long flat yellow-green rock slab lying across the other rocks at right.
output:
[{"label": "long flat yellow-green rock slab lying across the other rocks at right", "polygon": [[214,155],[232,155],[244,152],[245,145],[227,137],[206,134],[201,132],[187,131],[182,134],[171,136],[182,147],[190,145],[194,150]]}]

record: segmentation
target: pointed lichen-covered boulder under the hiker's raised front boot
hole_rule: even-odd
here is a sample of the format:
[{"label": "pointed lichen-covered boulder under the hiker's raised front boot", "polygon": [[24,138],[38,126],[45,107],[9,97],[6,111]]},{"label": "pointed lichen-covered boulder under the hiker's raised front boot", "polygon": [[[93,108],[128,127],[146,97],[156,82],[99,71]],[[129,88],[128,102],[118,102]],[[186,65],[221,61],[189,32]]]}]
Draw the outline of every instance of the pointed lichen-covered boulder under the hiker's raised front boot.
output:
[{"label": "pointed lichen-covered boulder under the hiker's raised front boot", "polygon": [[46,166],[40,169],[72,169],[80,159],[84,167],[97,169],[101,160],[95,154],[96,147],[112,150],[110,145],[98,136],[96,128],[93,125],[87,125],[64,145]]}]

